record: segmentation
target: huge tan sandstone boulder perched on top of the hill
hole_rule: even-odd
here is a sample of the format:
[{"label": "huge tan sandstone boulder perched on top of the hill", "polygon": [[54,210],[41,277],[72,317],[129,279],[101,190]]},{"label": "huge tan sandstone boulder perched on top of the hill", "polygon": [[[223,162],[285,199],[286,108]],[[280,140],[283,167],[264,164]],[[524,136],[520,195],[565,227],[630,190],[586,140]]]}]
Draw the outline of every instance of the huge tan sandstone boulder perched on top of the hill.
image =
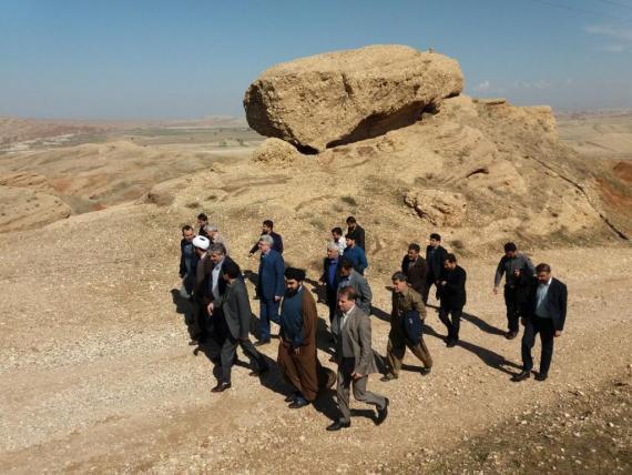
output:
[{"label": "huge tan sandstone boulder perched on top of the hill", "polygon": [[261,134],[318,152],[409,125],[462,89],[453,59],[373,46],[269,68],[246,91],[244,108]]}]

